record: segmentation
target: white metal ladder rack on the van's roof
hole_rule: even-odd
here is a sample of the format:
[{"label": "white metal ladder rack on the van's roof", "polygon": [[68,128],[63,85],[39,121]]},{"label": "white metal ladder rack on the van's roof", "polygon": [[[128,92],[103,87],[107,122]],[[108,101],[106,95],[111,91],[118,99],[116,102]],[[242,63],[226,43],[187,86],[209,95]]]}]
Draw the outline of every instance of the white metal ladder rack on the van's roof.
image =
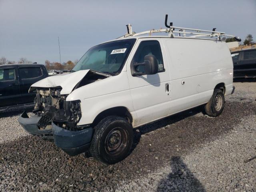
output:
[{"label": "white metal ladder rack on the van's roof", "polygon": [[[126,37],[130,37],[130,36],[139,36],[139,35],[143,35],[143,34],[152,34],[152,33],[158,33],[158,32],[166,32],[168,33],[168,36],[170,38],[174,38],[174,33],[178,34],[178,36],[181,36],[180,34],[183,34],[184,37],[186,37],[186,34],[190,35],[188,37],[194,37],[194,38],[200,38],[200,37],[217,37],[217,40],[221,40],[221,36],[227,36],[227,37],[233,37],[235,41],[240,42],[241,39],[239,37],[236,37],[234,35],[228,35],[225,34],[224,32],[219,32],[216,31],[216,28],[213,28],[212,31],[209,30],[202,30],[202,29],[192,29],[192,28],[184,28],[184,27],[176,27],[176,26],[172,26],[172,22],[170,23],[170,25],[167,24],[167,19],[168,19],[168,15],[165,15],[165,26],[167,27],[166,29],[152,29],[152,30],[148,30],[148,31],[144,31],[144,32],[140,32],[140,33],[135,33],[132,31],[132,25],[128,24],[126,25],[127,27],[127,33],[124,36],[121,36],[119,38],[126,38]],[[178,29],[178,30],[175,30]],[[202,33],[203,32],[203,33]]]}]

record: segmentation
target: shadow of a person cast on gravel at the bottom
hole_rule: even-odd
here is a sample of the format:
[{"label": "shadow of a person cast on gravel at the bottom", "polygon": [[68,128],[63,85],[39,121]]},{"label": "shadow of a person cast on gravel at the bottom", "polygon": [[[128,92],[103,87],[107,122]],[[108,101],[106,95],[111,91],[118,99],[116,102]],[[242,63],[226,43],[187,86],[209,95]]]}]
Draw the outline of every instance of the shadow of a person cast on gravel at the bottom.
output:
[{"label": "shadow of a person cast on gravel at the bottom", "polygon": [[170,166],[172,172],[159,182],[157,191],[190,191],[205,192],[206,190],[200,181],[188,169],[179,156],[171,158]]}]

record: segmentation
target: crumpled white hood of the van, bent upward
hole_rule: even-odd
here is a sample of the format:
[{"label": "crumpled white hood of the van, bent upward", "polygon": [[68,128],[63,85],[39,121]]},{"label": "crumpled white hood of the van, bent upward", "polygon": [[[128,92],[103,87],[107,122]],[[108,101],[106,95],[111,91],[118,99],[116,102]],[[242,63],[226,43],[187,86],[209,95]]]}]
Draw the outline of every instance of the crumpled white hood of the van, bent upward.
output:
[{"label": "crumpled white hood of the van, bent upward", "polygon": [[110,75],[94,71],[94,70],[80,70],[76,72],[72,72],[69,74],[61,74],[61,75],[55,75],[55,76],[50,76],[47,78],[44,78],[30,86],[30,89],[28,92],[32,92],[36,90],[38,87],[42,88],[51,88],[51,87],[58,87],[61,86],[62,90],[60,91],[60,94],[70,94],[76,84],[78,84],[88,72],[93,72],[97,74],[101,74],[103,76],[109,77]]}]

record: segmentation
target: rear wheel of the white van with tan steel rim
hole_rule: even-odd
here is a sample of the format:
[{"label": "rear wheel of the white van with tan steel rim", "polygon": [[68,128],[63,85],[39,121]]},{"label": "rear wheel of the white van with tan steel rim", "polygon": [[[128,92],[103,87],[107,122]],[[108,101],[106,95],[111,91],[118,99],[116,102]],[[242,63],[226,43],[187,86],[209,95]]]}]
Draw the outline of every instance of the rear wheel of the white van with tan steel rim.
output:
[{"label": "rear wheel of the white van with tan steel rim", "polygon": [[225,98],[222,90],[214,89],[210,101],[204,106],[205,113],[211,117],[219,116],[224,109]]}]

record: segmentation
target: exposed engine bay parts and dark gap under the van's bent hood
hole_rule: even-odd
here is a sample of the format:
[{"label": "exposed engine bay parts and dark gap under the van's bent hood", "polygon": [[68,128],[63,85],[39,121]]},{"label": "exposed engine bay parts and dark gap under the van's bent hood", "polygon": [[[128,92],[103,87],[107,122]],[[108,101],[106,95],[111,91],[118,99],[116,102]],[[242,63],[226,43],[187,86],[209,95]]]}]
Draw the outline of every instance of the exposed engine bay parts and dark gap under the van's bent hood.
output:
[{"label": "exposed engine bay parts and dark gap under the van's bent hood", "polygon": [[[107,78],[101,74],[88,73],[80,82],[76,84],[73,90]],[[42,116],[38,122],[40,129],[45,129],[52,122],[67,130],[81,130],[83,126],[77,126],[82,112],[80,100],[66,101],[68,94],[61,94],[62,87],[36,88],[36,98],[34,100],[34,114]]]}]

